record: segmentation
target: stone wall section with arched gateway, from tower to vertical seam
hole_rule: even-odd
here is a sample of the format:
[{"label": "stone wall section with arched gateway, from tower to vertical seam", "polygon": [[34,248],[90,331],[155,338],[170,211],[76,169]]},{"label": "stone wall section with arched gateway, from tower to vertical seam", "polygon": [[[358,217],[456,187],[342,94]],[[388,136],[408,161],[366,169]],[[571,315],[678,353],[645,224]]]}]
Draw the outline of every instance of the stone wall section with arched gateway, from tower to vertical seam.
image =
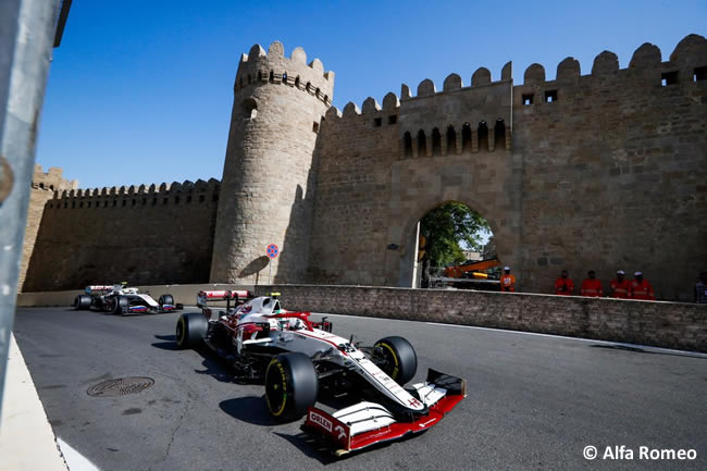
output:
[{"label": "stone wall section with arched gateway, from tower to vertical seam", "polygon": [[507,74],[468,88],[448,78],[437,95],[425,80],[415,98],[388,94],[382,108],[370,98],[340,116],[330,109],[318,146],[313,282],[411,286],[417,223],[447,201],[486,216],[503,259],[520,261],[522,159],[506,126]]}]

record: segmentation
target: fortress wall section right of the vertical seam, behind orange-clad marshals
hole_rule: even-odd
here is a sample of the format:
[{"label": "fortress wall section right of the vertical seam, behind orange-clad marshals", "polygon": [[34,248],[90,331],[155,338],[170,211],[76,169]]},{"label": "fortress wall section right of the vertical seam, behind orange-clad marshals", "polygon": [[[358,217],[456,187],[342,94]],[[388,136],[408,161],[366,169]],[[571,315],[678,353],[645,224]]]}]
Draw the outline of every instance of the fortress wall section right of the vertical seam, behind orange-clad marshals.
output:
[{"label": "fortress wall section right of the vertical seam, behind orange-clad marshals", "polygon": [[[692,300],[707,270],[707,79],[695,79],[705,65],[705,39],[690,36],[668,62],[646,44],[625,70],[610,52],[587,76],[574,60],[551,82],[529,69],[513,94],[526,289],[563,268],[575,281],[595,269],[606,288],[623,269],[643,271],[661,299]],[[549,92],[557,101],[543,102]],[[523,106],[530,95],[539,102]]]}]

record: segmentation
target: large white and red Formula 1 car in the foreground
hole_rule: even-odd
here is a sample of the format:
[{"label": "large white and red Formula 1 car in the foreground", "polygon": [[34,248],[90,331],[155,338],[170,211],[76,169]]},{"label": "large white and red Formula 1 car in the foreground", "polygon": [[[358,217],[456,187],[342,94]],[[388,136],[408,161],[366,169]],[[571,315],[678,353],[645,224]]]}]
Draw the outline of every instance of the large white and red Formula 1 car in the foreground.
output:
[{"label": "large white and red Formula 1 car in the foreground", "polygon": [[[245,301],[213,315],[209,292],[199,294],[202,312],[182,314],[179,348],[202,343],[226,359],[236,376],[264,380],[270,413],[280,420],[306,416],[302,430],[324,438],[343,454],[422,432],[435,425],[466,397],[464,380],[429,370],[424,383],[405,387],[417,371],[412,346],[385,337],[361,347],[354,337],[332,334],[323,318],[288,312],[276,294]],[[334,412],[314,407],[318,398],[348,395],[351,406]]]}]

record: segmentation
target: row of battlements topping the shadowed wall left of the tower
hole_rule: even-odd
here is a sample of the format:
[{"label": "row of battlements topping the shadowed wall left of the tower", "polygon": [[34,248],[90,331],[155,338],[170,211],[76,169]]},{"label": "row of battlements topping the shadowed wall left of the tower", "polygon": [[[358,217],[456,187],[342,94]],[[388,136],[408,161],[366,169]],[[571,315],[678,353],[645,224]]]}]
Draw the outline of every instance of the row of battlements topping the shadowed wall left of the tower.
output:
[{"label": "row of battlements topping the shadowed wall left of the tower", "polygon": [[185,181],[152,185],[113,186],[104,188],[63,189],[54,191],[48,201],[50,209],[112,208],[216,202],[221,182]]}]

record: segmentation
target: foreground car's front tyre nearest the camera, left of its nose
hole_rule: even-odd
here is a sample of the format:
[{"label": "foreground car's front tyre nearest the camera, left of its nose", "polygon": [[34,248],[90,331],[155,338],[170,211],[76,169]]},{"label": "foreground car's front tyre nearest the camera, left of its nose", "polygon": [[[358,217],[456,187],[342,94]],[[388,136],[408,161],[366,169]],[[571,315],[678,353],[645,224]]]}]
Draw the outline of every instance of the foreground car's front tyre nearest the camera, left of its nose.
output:
[{"label": "foreground car's front tyre nearest the camera, left of its nose", "polygon": [[317,402],[319,380],[312,360],[301,352],[281,354],[265,371],[265,401],[280,421],[300,419]]}]

